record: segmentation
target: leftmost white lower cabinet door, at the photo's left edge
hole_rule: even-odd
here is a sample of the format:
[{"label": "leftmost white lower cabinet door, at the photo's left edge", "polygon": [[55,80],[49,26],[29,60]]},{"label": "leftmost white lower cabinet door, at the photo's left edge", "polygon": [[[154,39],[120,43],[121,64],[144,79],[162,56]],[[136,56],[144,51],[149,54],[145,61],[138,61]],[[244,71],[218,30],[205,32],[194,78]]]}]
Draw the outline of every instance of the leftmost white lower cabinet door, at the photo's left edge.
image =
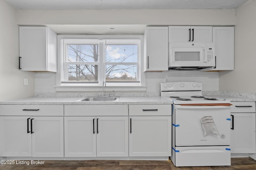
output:
[{"label": "leftmost white lower cabinet door, at the photo's left edge", "polygon": [[0,116],[0,156],[32,156],[29,117]]}]

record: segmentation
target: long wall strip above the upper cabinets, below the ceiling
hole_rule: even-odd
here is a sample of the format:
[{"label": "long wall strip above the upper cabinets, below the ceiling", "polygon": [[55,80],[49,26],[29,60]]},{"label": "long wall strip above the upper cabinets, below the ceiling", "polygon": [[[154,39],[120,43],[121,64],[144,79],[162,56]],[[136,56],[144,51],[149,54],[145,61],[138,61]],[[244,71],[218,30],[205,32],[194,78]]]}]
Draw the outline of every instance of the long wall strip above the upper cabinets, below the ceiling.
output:
[{"label": "long wall strip above the upper cabinets, below the ceiling", "polygon": [[17,10],[19,25],[235,25],[236,10]]}]

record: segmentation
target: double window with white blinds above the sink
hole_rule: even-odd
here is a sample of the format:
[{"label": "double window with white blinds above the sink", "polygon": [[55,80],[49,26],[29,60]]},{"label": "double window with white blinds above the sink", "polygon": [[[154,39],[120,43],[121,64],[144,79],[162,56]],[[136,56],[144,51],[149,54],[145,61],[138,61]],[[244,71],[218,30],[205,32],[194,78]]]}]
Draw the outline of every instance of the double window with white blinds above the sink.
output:
[{"label": "double window with white blinds above the sink", "polygon": [[144,85],[141,35],[92,37],[58,35],[57,86]]}]

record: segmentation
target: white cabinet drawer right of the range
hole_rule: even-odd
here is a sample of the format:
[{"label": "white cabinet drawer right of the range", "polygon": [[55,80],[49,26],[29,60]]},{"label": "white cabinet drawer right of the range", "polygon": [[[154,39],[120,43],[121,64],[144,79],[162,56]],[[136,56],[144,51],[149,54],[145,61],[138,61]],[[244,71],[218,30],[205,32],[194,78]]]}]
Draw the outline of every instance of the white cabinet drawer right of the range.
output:
[{"label": "white cabinet drawer right of the range", "polygon": [[231,102],[231,113],[254,113],[255,102]]}]

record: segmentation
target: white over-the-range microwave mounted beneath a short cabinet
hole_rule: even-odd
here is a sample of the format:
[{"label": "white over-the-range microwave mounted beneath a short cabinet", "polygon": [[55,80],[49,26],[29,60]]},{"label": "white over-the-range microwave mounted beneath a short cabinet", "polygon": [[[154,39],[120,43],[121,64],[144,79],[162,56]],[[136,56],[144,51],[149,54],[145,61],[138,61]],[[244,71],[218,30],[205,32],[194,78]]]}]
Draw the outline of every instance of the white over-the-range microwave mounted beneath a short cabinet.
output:
[{"label": "white over-the-range microwave mounted beneath a short cabinet", "polygon": [[200,70],[215,66],[214,43],[170,43],[169,70]]}]

